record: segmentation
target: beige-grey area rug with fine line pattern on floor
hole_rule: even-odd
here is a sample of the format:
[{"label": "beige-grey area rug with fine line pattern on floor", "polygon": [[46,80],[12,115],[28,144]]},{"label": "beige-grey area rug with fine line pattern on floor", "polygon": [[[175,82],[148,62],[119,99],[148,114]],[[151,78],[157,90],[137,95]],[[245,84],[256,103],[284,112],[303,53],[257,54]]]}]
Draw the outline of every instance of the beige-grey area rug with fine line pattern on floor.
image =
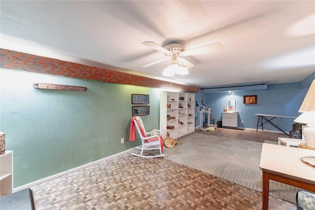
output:
[{"label": "beige-grey area rug with fine line pattern on floor", "polygon": [[[277,143],[268,141],[266,143]],[[261,192],[262,143],[194,133],[165,148],[165,158]],[[295,203],[299,188],[270,181],[269,194]]]}]

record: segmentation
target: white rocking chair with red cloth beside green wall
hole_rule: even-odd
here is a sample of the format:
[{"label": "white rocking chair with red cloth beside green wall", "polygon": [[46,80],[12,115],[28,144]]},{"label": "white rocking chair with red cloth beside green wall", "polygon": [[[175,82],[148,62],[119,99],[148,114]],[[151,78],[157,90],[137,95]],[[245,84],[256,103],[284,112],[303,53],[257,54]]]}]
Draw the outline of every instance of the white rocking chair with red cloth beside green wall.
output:
[{"label": "white rocking chair with red cloth beside green wall", "polygon": [[[163,147],[164,147],[164,143],[163,145],[161,145],[161,136],[162,133],[160,132],[160,130],[153,130],[151,132],[146,132],[142,119],[138,116],[135,116],[135,118],[133,118],[133,122],[135,127],[137,128],[137,131],[139,133],[139,136],[141,138],[141,142],[142,145],[141,146],[137,146],[137,149],[141,149],[140,155],[135,154],[135,153],[131,153],[134,156],[138,156],[138,157],[145,157],[145,158],[156,158],[156,157],[163,157],[165,156],[165,154],[162,153],[163,151]],[[162,141],[163,142],[163,141]],[[144,150],[159,150],[160,154],[159,155],[143,155],[143,151]]]}]

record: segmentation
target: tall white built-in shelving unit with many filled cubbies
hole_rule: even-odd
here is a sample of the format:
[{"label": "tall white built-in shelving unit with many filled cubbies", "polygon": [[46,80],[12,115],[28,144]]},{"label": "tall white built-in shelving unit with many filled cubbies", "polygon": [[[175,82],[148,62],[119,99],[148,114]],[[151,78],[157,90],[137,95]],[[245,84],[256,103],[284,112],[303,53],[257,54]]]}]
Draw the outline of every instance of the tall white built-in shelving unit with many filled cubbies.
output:
[{"label": "tall white built-in shelving unit with many filled cubbies", "polygon": [[163,138],[167,133],[179,138],[194,132],[194,100],[194,94],[161,91],[159,130]]}]

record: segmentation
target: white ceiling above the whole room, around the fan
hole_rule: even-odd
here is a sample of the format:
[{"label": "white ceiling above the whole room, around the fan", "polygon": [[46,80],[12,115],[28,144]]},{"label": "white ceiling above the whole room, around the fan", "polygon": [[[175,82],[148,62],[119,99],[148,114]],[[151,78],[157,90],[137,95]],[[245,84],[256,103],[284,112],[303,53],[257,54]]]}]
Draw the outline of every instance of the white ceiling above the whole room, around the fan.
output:
[{"label": "white ceiling above the whole room, around the fan", "polygon": [[[0,1],[1,48],[199,87],[299,82],[315,71],[315,1]],[[188,75],[141,42],[220,53],[185,57]]]}]

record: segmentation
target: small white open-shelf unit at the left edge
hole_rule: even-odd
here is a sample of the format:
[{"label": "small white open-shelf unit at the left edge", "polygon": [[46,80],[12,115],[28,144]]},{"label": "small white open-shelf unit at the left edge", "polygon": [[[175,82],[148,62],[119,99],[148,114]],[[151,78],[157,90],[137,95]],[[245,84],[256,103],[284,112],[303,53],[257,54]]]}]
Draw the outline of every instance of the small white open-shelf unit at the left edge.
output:
[{"label": "small white open-shelf unit at the left edge", "polygon": [[13,191],[13,151],[0,155],[0,196]]}]

